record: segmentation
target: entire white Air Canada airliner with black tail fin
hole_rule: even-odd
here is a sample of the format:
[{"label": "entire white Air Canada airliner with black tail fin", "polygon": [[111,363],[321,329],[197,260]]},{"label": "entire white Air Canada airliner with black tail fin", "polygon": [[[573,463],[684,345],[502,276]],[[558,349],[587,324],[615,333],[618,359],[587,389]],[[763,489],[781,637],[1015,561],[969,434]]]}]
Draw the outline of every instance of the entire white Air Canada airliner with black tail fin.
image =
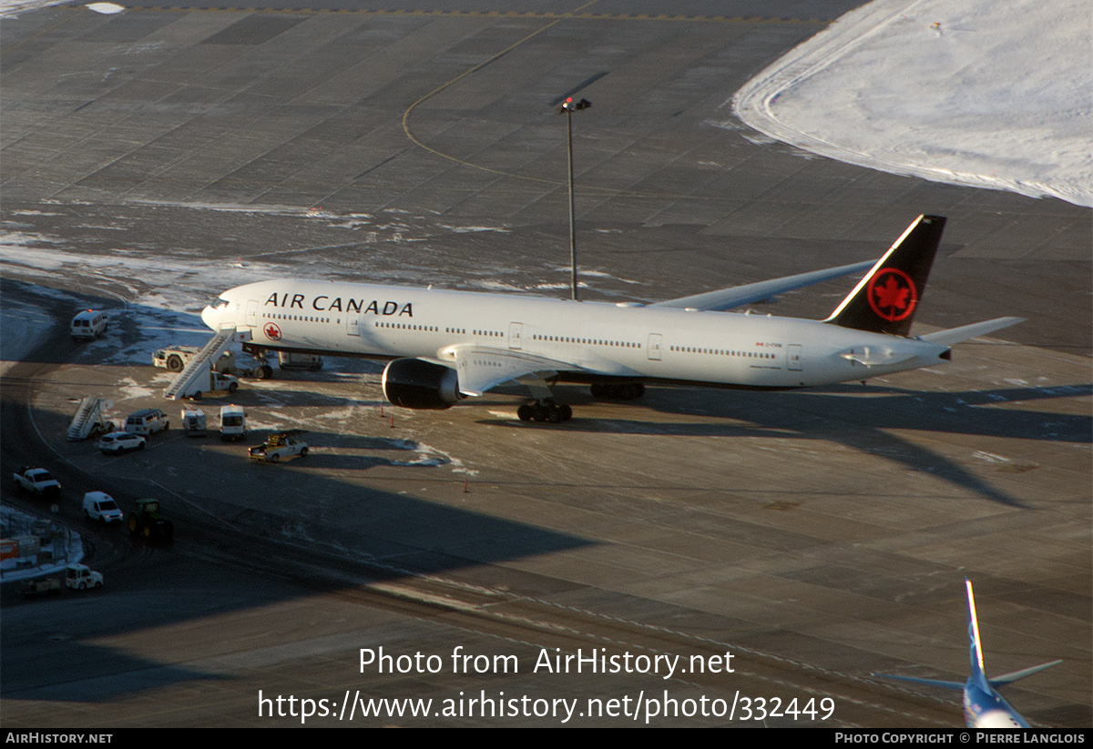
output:
[{"label": "entire white Air Canada airliner with black tail fin", "polygon": [[[248,347],[388,359],[385,396],[448,408],[503,382],[533,399],[524,420],[564,421],[555,382],[628,400],[646,382],[787,389],[936,365],[950,346],[1021,322],[999,318],[910,337],[945,219],[919,216],[875,262],[802,273],[651,305],[571,301],[332,281],[237,286],[201,313]],[[728,310],[868,270],[825,320]]]}]

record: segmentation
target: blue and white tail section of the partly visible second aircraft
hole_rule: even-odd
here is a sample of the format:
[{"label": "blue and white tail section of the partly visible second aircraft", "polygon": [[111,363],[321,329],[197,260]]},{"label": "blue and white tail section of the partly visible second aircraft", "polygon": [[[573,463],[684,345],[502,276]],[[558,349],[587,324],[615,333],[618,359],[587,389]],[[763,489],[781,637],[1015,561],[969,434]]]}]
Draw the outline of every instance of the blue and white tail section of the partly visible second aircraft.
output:
[{"label": "blue and white tail section of the partly visible second aircraft", "polygon": [[964,721],[969,728],[1027,728],[1029,723],[1002,699],[997,688],[1013,683],[1018,679],[1023,679],[1033,674],[1038,674],[1045,668],[1050,668],[1062,663],[1062,661],[1051,661],[1038,666],[1023,668],[994,679],[987,678],[983,665],[983,644],[979,639],[979,621],[975,614],[975,596],[972,593],[972,582],[965,580],[964,584],[967,587],[967,634],[972,662],[972,673],[967,677],[967,681],[961,683],[959,681],[943,681],[940,679],[922,679],[914,676],[896,676],[894,674],[873,674],[873,676],[963,692]]}]

